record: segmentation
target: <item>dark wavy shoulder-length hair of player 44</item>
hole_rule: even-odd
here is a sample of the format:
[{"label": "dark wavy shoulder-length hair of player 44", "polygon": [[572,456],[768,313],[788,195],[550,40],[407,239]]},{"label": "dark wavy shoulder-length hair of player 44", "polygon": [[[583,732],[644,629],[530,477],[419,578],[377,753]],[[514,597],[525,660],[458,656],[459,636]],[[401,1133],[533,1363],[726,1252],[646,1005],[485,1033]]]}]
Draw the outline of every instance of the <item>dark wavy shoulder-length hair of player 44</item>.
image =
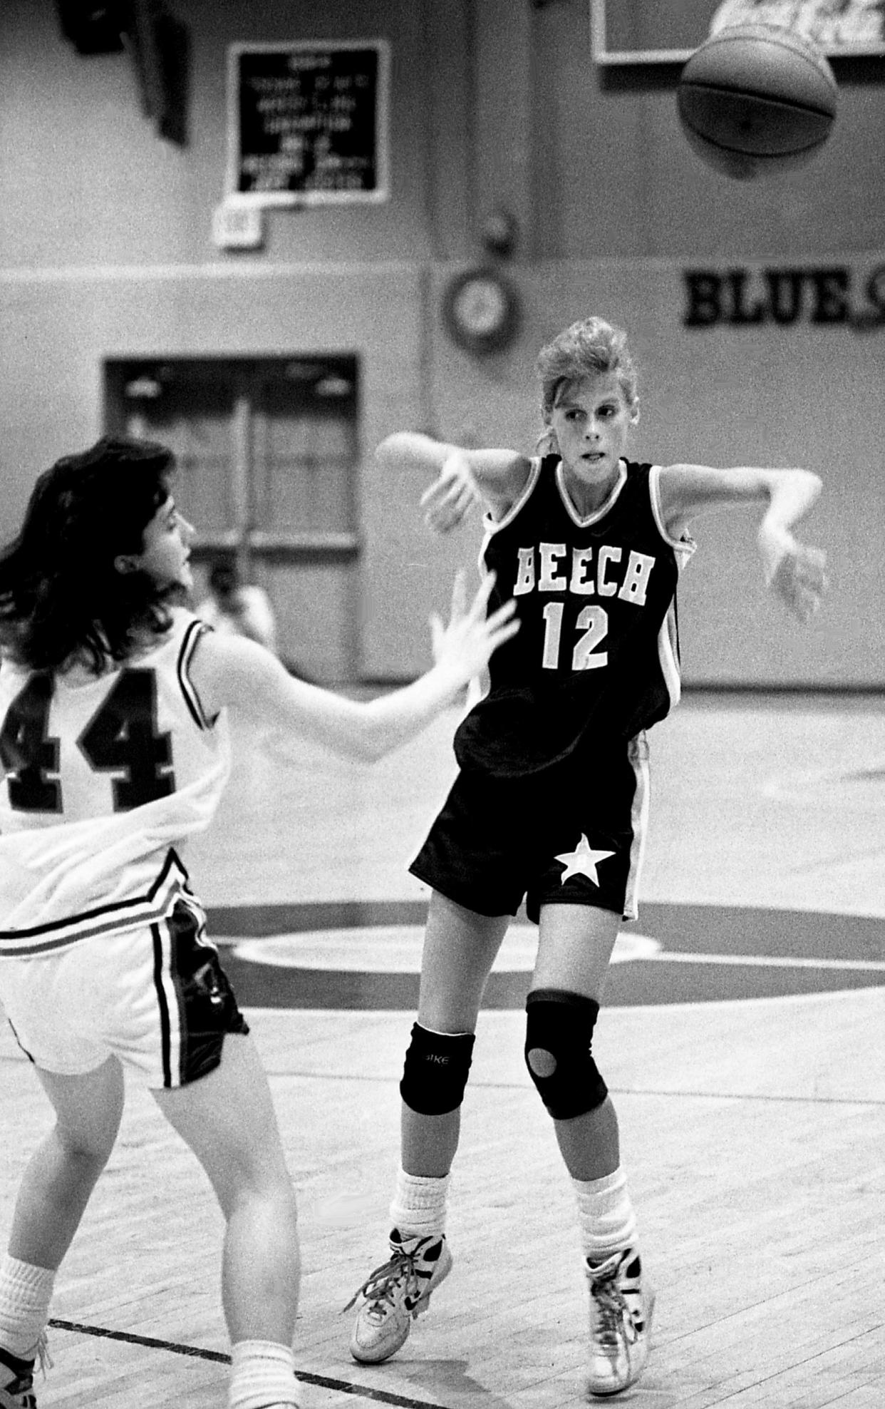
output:
[{"label": "dark wavy shoulder-length hair of player 44", "polygon": [[0,552],[0,645],[13,659],[56,671],[79,657],[98,674],[169,630],[180,589],[121,573],[114,559],[142,552],[173,469],[165,445],[104,437],[39,476],[21,533]]}]

